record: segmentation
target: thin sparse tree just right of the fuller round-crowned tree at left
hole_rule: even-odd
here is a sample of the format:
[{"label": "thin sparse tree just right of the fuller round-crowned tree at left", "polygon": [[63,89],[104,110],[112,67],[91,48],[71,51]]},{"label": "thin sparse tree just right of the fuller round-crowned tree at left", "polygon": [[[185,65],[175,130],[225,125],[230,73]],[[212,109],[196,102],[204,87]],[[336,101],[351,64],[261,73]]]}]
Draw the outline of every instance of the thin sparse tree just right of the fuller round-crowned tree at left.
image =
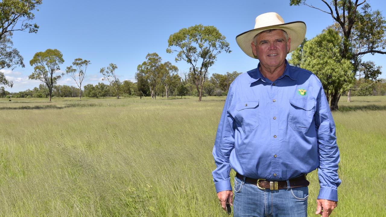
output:
[{"label": "thin sparse tree just right of the fuller round-crowned tree at left", "polygon": [[79,98],[82,99],[82,82],[86,75],[87,66],[90,65],[89,60],[83,60],[82,58],[76,58],[73,61],[73,66],[67,66],[66,73],[70,75],[79,87]]}]

